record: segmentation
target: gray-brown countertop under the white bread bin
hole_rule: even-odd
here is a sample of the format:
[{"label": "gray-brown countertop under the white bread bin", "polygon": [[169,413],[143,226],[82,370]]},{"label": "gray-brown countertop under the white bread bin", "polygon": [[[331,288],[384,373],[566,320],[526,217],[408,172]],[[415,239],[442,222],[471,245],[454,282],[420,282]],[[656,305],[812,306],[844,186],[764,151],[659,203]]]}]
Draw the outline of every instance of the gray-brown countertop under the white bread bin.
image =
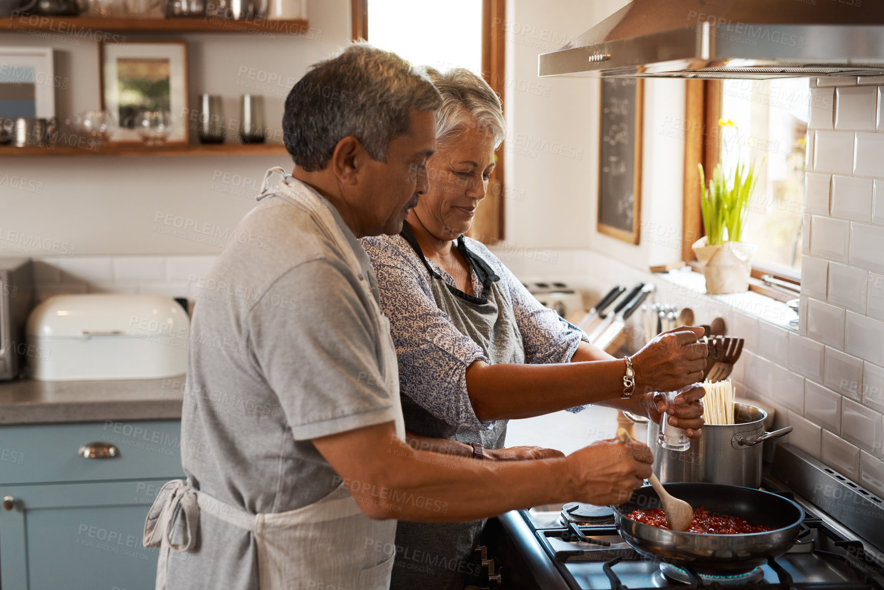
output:
[{"label": "gray-brown countertop under the white bread bin", "polygon": [[180,419],[184,379],[0,381],[0,425]]}]

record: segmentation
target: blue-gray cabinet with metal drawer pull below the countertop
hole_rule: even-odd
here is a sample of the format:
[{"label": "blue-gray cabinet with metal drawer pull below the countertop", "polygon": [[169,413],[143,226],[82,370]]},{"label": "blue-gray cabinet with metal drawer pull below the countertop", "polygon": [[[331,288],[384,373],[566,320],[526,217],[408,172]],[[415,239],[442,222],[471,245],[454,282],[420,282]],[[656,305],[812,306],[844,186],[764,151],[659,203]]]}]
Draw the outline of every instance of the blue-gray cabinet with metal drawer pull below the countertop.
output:
[{"label": "blue-gray cabinet with metal drawer pull below the countertop", "polygon": [[[153,588],[157,549],[141,536],[159,488],[184,477],[179,431],[179,421],[0,427],[0,587]],[[78,454],[93,442],[116,456]]]}]

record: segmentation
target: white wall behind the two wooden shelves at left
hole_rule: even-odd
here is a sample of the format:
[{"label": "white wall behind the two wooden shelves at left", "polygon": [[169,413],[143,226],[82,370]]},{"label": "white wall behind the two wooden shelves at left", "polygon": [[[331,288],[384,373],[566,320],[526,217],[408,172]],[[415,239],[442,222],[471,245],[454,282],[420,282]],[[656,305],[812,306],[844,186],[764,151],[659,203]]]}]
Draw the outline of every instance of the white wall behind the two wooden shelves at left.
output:
[{"label": "white wall behind the two wooden shelves at left", "polygon": [[[278,129],[292,85],[287,79],[299,79],[309,64],[328,57],[349,41],[347,0],[310,0],[308,10],[311,32],[304,36],[180,35],[187,39],[191,106],[203,92],[220,94],[225,96],[225,113],[238,119],[240,95],[260,93],[267,103],[268,126]],[[59,119],[98,108],[98,47],[94,41],[64,35],[46,39],[34,34],[4,33],[3,44],[49,45],[56,50],[56,74],[67,80],[67,88],[57,90]],[[278,74],[286,81],[278,86],[250,80],[250,76],[264,78],[256,71]],[[249,84],[258,84],[258,88]],[[157,215],[190,218],[219,226],[222,232],[230,229],[254,206],[255,186],[273,165],[288,168],[291,161],[285,154],[0,157],[0,257],[58,253],[42,247],[13,251],[6,239],[10,231],[72,245],[77,255],[217,254],[220,248],[216,245],[158,234]],[[28,180],[26,189],[13,188],[13,184],[20,184],[13,178]]]}]

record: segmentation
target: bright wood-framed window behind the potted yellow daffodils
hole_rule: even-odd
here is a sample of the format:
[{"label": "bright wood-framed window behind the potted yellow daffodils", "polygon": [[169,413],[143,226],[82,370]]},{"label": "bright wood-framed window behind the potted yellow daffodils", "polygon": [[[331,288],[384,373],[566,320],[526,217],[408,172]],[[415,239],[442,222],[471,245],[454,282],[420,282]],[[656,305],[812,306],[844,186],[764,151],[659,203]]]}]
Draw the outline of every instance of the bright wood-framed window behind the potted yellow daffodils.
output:
[{"label": "bright wood-framed window behind the potted yellow daffodils", "polygon": [[[687,84],[684,260],[695,259],[690,244],[703,235],[697,163],[703,164],[708,178],[719,162],[733,170],[739,157],[743,164],[755,158],[758,182],[742,236],[756,246],[752,276],[773,274],[800,282],[809,80],[688,80]],[[750,288],[783,301],[795,296],[757,282]]]}]

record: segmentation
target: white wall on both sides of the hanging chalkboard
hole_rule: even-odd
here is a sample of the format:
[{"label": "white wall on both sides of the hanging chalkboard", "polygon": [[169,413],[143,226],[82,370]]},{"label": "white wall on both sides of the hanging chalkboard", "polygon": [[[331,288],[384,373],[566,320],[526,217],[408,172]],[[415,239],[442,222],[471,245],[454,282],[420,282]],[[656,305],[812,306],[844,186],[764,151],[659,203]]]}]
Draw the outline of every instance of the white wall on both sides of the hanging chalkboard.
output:
[{"label": "white wall on both sides of the hanging chalkboard", "polygon": [[[560,49],[624,4],[621,0],[510,0],[507,4],[510,198],[507,243],[499,248],[504,252],[528,251],[530,256],[532,249],[595,249],[636,268],[680,256],[677,248],[661,246],[663,237],[680,234],[682,226],[683,142],[663,132],[667,118],[683,117],[683,82],[644,82],[641,220],[642,233],[649,239],[633,246],[596,232],[598,80],[537,77],[537,54]],[[523,262],[518,256],[511,258],[514,264]],[[564,265],[547,270],[570,272]]]}]

